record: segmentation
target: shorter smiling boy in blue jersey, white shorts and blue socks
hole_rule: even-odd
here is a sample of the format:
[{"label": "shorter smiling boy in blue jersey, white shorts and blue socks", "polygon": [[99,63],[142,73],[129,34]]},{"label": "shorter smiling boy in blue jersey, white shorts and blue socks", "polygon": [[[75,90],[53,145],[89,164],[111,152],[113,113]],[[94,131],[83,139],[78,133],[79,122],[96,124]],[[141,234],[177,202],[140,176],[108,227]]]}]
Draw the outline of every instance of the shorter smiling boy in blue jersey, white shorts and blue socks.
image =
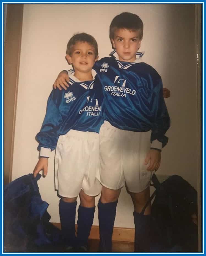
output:
[{"label": "shorter smiling boy in blue jersey, white shorts and blue socks", "polygon": [[[74,35],[67,44],[66,59],[73,65],[70,87],[53,90],[48,98],[46,115],[37,134],[40,150],[34,177],[47,174],[51,150],[55,155],[55,188],[61,196],[59,215],[66,251],[87,251],[87,242],[95,211],[95,196],[101,192],[96,178],[99,169],[99,130],[101,85],[92,70],[98,59],[97,42],[86,34]],[[75,236],[76,199],[80,196],[78,230]],[[75,248],[76,247],[76,248]]]}]

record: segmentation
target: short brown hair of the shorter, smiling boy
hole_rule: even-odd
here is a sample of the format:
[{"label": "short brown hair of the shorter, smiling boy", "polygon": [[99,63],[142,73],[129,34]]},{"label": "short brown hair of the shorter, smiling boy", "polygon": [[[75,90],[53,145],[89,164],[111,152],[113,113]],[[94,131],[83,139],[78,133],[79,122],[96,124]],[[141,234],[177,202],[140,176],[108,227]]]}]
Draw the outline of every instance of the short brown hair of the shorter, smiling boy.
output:
[{"label": "short brown hair of the shorter, smiling boy", "polygon": [[98,45],[95,38],[87,33],[78,33],[72,36],[67,43],[67,51],[66,53],[71,56],[72,54],[72,46],[77,42],[87,42],[88,44],[94,47],[95,57],[98,56]]}]

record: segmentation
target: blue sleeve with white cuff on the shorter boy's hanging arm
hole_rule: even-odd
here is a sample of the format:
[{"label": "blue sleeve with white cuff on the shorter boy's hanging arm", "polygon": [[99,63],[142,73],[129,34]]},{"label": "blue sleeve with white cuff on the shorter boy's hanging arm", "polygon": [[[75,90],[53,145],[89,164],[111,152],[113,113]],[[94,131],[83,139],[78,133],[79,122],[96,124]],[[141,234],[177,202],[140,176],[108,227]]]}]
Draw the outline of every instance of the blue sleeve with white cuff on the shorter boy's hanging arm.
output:
[{"label": "blue sleeve with white cuff on the shorter boy's hanging arm", "polygon": [[49,157],[51,150],[54,150],[59,138],[59,128],[63,122],[62,115],[59,112],[59,107],[56,104],[60,92],[52,91],[46,107],[46,114],[42,124],[42,128],[36,135],[36,140],[39,142],[37,149],[40,151],[40,156]]}]

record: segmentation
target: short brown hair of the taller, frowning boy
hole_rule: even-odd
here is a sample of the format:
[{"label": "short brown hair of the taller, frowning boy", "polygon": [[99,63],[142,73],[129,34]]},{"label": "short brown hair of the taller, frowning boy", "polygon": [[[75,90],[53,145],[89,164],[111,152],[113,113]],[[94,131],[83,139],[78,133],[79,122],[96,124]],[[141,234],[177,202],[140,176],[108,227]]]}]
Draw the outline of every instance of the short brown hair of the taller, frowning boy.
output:
[{"label": "short brown hair of the taller, frowning boy", "polygon": [[114,39],[114,33],[116,29],[126,28],[128,30],[139,30],[139,39],[143,36],[143,22],[138,15],[130,12],[122,12],[114,17],[109,26],[109,38]]}]

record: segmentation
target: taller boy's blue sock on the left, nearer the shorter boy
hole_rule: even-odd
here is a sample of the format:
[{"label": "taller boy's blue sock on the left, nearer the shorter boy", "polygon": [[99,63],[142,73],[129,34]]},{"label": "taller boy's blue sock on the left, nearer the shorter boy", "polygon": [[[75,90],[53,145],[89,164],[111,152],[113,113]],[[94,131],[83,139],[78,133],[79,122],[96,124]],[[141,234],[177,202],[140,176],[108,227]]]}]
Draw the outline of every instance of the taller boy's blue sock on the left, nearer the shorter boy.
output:
[{"label": "taller boy's blue sock on the left, nearer the shorter boy", "polygon": [[98,218],[100,230],[100,252],[112,252],[112,233],[116,216],[117,202],[102,203],[98,202]]}]

